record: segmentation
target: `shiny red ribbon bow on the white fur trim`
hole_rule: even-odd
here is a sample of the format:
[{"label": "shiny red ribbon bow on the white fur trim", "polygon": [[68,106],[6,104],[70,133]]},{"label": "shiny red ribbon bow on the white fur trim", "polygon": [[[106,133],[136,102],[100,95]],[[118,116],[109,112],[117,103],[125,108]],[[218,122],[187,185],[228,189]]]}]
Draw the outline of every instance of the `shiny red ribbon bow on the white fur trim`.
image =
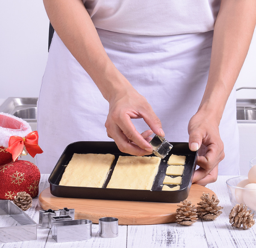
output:
[{"label": "shiny red ribbon bow on the white fur trim", "polygon": [[38,133],[33,131],[25,138],[19,136],[11,136],[9,139],[9,147],[5,151],[9,151],[12,159],[15,161],[21,154],[23,147],[26,147],[27,152],[34,158],[37,153],[43,153],[43,150],[38,145]]}]

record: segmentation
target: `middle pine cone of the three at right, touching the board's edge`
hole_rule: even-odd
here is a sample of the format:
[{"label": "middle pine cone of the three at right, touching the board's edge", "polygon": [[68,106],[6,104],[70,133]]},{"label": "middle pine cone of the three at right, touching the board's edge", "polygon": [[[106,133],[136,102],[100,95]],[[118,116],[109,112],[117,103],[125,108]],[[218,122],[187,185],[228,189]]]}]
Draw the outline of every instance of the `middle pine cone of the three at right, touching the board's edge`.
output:
[{"label": "middle pine cone of the three at right, touching the board's edge", "polygon": [[213,195],[210,199],[209,193],[203,193],[203,196],[200,197],[201,200],[197,205],[197,215],[198,217],[206,220],[206,221],[213,221],[215,220],[220,214],[222,214],[221,210],[223,207],[217,206],[219,204],[219,200],[216,199],[216,196]]}]

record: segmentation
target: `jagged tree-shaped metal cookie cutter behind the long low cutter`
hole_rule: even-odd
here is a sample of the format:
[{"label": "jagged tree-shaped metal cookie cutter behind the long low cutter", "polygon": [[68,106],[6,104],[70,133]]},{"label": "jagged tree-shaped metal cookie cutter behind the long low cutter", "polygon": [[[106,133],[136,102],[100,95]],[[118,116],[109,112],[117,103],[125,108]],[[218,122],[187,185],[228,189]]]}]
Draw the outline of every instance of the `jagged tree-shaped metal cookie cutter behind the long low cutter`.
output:
[{"label": "jagged tree-shaped metal cookie cutter behind the long low cutter", "polygon": [[55,216],[69,216],[72,219],[75,219],[75,209],[64,207],[59,210],[39,210],[39,227],[41,229],[52,228],[52,219],[51,217]]}]

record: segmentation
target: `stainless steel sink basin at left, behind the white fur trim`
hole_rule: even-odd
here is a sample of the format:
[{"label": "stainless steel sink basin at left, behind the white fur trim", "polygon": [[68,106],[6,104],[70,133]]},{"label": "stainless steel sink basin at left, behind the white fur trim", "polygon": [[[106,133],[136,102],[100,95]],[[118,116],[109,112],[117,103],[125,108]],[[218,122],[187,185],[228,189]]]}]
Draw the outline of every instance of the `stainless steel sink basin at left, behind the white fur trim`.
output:
[{"label": "stainless steel sink basin at left, behind the white fur trim", "polygon": [[37,122],[38,97],[9,97],[0,106],[0,112],[14,115],[26,122]]}]

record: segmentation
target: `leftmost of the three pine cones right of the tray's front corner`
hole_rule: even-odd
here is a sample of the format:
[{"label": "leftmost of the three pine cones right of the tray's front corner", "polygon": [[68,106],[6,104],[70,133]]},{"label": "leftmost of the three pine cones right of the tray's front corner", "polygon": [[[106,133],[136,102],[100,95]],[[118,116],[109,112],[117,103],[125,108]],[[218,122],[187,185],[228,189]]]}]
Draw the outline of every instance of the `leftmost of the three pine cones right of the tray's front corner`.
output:
[{"label": "leftmost of the three pine cones right of the tray's front corner", "polygon": [[192,225],[197,222],[197,208],[191,201],[182,201],[176,210],[176,222],[180,225]]}]

